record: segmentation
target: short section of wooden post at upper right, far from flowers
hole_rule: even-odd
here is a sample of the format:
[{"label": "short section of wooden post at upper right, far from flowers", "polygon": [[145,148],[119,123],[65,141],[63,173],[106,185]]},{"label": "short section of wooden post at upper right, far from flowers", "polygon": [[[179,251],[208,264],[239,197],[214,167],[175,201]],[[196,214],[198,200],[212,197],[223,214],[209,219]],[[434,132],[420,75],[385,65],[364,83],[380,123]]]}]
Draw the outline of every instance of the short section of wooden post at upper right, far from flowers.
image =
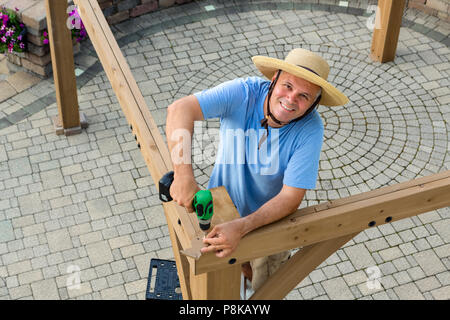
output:
[{"label": "short section of wooden post at upper right, far from flowers", "polygon": [[405,0],[378,0],[376,21],[380,25],[376,23],[373,30],[372,60],[384,63],[395,59],[404,7]]}]

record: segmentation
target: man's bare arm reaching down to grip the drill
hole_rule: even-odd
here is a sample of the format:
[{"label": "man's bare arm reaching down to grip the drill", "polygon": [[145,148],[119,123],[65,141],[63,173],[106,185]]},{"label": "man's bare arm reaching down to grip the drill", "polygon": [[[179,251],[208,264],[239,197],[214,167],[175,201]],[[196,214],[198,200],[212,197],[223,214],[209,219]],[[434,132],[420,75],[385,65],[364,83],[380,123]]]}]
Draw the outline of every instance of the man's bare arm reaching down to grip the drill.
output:
[{"label": "man's bare arm reaching down to grip the drill", "polygon": [[167,108],[166,137],[174,171],[170,195],[189,212],[194,211],[192,199],[200,190],[191,163],[194,121],[203,119],[200,104],[193,95],[176,100]]}]

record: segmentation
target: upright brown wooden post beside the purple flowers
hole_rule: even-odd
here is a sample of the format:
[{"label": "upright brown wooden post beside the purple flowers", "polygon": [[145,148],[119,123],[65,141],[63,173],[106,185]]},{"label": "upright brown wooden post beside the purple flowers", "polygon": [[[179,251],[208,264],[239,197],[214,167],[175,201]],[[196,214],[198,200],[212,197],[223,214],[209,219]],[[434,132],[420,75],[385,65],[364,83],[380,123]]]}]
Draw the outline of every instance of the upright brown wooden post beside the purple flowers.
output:
[{"label": "upright brown wooden post beside the purple flowers", "polygon": [[58,135],[78,134],[82,127],[87,127],[87,122],[78,111],[72,37],[66,25],[67,1],[46,0],[46,10],[58,105],[58,116],[53,118],[53,124]]}]

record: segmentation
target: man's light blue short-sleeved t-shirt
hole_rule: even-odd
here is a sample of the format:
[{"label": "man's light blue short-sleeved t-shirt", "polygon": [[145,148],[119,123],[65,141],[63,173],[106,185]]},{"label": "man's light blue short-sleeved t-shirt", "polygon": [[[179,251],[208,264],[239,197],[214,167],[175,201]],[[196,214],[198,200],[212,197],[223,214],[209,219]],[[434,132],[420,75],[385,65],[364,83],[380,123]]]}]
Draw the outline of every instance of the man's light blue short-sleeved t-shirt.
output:
[{"label": "man's light blue short-sleeved t-shirt", "polygon": [[276,196],[283,184],[313,189],[319,169],[323,123],[314,110],[281,128],[266,130],[263,103],[270,82],[235,79],[195,93],[205,119],[220,118],[220,142],[208,188],[225,186],[239,214],[246,216]]}]

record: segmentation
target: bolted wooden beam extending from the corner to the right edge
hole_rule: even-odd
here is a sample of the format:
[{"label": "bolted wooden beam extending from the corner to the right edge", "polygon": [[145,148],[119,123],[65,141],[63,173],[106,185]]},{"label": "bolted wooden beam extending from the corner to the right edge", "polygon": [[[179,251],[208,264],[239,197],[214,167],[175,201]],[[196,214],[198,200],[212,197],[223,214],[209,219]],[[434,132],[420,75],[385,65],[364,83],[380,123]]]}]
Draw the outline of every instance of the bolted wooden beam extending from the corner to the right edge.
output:
[{"label": "bolted wooden beam extending from the corner to the right edge", "polygon": [[[433,179],[428,178],[433,180],[430,182],[414,186],[410,182],[399,184],[397,191],[369,199],[348,201],[318,213],[311,213],[308,208],[298,210],[247,234],[231,257],[219,259],[214,254],[202,255],[195,261],[195,271],[203,273],[217,270],[227,267],[230,259],[240,264],[257,257],[360,232],[369,228],[371,222],[374,223],[373,226],[379,226],[449,206],[449,172],[434,176]],[[391,220],[386,220],[388,218]]]}]

